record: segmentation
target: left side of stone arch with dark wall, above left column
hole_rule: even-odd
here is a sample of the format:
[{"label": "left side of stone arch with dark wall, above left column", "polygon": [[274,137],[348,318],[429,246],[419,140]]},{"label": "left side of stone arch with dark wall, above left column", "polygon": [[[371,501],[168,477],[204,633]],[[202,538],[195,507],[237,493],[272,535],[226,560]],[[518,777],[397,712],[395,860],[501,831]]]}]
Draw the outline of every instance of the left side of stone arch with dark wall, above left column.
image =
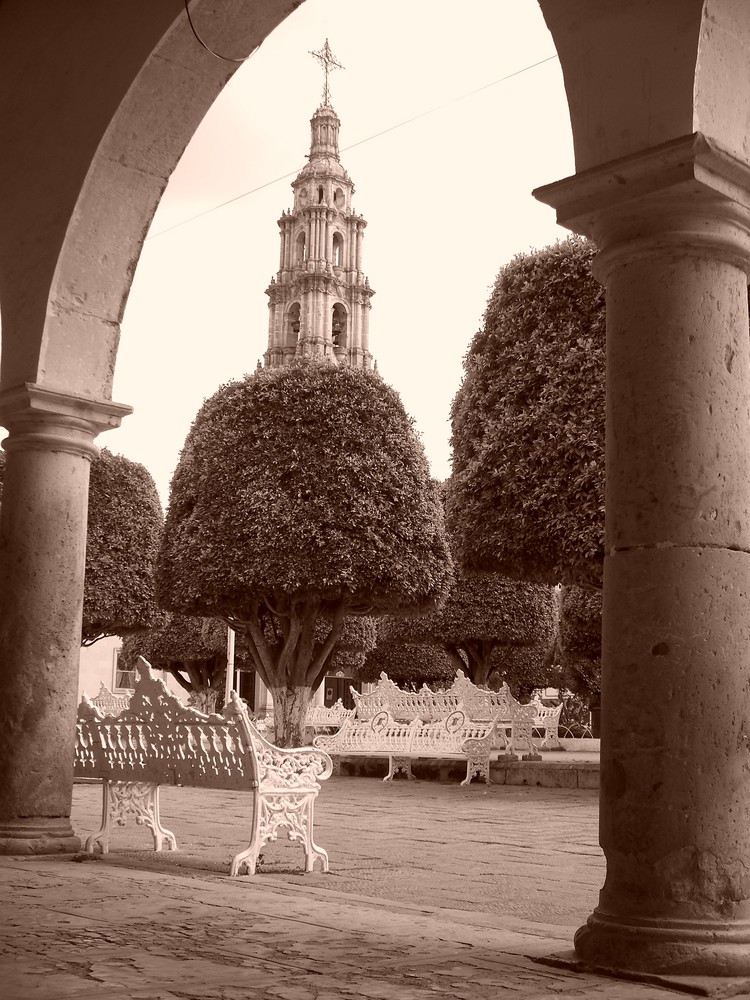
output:
[{"label": "left side of stone arch with dark wall, above left column", "polygon": [[[191,13],[216,51],[242,56],[293,6],[229,0],[219,18],[210,0],[192,0]],[[34,383],[108,399],[151,219],[185,146],[240,64],[200,46],[180,0],[106,11],[46,5],[42,23],[35,5],[4,4],[7,87],[24,79],[28,39],[45,75],[21,88],[23,107],[7,131],[4,122],[14,155],[0,165],[0,389]],[[65,96],[54,114],[50,90]]]}]

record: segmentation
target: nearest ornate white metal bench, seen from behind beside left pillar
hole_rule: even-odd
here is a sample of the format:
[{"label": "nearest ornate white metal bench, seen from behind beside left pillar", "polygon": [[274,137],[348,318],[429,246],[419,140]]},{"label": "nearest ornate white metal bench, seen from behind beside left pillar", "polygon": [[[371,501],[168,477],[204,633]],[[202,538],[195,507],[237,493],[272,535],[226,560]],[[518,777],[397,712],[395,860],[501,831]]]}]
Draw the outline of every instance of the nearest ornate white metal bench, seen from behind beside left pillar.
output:
[{"label": "nearest ornate white metal bench, seen from behind beside left pillar", "polygon": [[313,806],[320,782],[332,770],[331,758],[312,747],[286,750],[269,743],[253,726],[243,702],[232,692],[226,716],[188,708],[138,660],[139,679],[129,708],[104,716],[84,697],[78,710],[75,775],[102,781],[102,822],[87,838],[85,850],[109,850],[116,826],[129,817],[151,831],[154,849],[177,838],[159,814],[160,785],[245,789],[252,793],[250,842],[232,860],[231,875],[255,873],[258,854],[282,830],[301,841],[305,871],[328,855],[313,840]]}]

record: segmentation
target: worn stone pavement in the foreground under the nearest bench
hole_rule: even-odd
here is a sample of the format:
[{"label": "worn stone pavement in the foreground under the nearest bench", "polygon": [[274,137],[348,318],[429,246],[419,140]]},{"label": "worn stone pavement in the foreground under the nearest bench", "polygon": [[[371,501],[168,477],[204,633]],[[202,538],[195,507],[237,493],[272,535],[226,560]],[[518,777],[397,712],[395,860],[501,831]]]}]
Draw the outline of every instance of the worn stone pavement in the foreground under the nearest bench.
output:
[{"label": "worn stone pavement in the foreground under the nearest bench", "polygon": [[[333,778],[316,817],[331,872],[304,875],[279,843],[240,879],[247,796],[164,788],[161,805],[178,853],[125,828],[96,860],[0,858],[2,1000],[679,995],[536,961],[568,951],[596,903],[593,792]],[[99,812],[77,785],[77,831]]]}]

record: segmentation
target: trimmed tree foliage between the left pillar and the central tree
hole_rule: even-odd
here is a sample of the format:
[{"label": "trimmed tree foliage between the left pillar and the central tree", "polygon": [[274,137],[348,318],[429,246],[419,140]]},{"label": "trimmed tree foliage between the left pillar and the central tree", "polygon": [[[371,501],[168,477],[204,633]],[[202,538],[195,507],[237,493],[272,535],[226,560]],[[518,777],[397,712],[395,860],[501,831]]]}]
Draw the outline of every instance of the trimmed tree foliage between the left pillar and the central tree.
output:
[{"label": "trimmed tree foliage between the left pillar and the central tree", "polygon": [[[0,451],[0,499],[4,470]],[[102,448],[92,459],[89,480],[82,645],[163,621],[154,588],[163,522],[151,473]]]}]

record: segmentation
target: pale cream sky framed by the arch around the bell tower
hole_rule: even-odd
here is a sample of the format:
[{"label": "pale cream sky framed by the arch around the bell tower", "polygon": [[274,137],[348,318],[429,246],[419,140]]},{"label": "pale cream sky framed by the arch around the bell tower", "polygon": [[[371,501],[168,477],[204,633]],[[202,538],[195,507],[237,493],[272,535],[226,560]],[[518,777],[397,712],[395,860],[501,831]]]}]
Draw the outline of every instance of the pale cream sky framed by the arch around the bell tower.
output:
[{"label": "pale cream sky framed by the arch around the bell tower", "polygon": [[[204,35],[211,44],[210,25]],[[309,51],[326,38],[344,66],[331,75],[341,162],[368,222],[370,350],[435,477],[450,474],[451,400],[499,268],[565,235],[531,195],[574,170],[562,74],[535,0],[306,0],[207,114],[136,271],[113,393],[135,412],[98,443],[142,462],[165,506],[203,400],[266,349],[277,220],[322,95]]]}]

